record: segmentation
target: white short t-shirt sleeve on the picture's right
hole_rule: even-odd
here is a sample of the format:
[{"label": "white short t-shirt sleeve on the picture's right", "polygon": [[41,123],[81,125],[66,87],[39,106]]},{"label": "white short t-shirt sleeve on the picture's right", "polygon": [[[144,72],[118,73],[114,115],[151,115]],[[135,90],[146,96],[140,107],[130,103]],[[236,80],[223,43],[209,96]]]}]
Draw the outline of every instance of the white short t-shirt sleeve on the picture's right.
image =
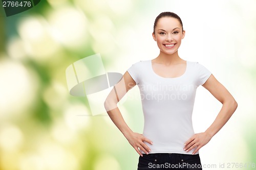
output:
[{"label": "white short t-shirt sleeve on the picture's right", "polygon": [[203,85],[211,75],[211,72],[202,64],[196,63],[197,68],[197,85]]}]

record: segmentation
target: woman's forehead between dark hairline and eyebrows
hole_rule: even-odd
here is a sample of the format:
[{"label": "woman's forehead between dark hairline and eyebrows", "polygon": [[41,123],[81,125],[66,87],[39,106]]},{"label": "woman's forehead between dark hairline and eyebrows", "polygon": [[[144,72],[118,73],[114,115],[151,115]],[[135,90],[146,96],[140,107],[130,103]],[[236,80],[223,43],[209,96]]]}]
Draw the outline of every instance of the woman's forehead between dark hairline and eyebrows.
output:
[{"label": "woman's forehead between dark hairline and eyebrows", "polygon": [[162,17],[158,20],[157,26],[158,29],[174,29],[174,28],[181,28],[180,21],[173,17]]}]

